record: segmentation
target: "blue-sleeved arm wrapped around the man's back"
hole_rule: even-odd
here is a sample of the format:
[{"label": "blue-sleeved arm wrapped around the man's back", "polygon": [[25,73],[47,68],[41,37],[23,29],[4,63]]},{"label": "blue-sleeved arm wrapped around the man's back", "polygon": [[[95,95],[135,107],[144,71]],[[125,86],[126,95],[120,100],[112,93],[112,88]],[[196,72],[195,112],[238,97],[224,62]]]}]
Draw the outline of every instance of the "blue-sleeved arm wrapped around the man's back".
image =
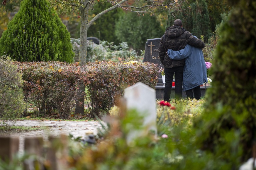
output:
[{"label": "blue-sleeved arm wrapped around the man's back", "polygon": [[190,48],[191,46],[187,44],[184,49],[181,49],[179,51],[173,51],[171,49],[168,49],[167,55],[173,60],[182,60],[190,56]]}]

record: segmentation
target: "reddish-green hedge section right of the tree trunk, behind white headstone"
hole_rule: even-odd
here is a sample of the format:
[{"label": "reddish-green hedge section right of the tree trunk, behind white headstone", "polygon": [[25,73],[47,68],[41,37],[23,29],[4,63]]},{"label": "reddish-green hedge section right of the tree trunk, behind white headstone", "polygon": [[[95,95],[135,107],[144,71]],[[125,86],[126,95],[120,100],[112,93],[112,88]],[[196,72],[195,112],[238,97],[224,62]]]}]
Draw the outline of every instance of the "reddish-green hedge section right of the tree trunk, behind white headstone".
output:
[{"label": "reddish-green hedge section right of the tree trunk, behind white headstone", "polygon": [[151,88],[157,84],[158,70],[153,63],[88,63],[89,84],[87,100],[91,101],[91,117],[99,116],[100,111],[107,111],[123,95],[123,89],[137,82],[142,82]]}]

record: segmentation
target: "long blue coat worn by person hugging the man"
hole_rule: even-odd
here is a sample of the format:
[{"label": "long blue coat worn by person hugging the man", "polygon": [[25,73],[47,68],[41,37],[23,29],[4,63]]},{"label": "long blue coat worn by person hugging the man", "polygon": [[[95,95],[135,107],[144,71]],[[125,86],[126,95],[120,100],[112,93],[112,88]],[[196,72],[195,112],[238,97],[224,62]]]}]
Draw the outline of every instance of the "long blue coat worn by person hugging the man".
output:
[{"label": "long blue coat worn by person hugging the man", "polygon": [[187,44],[184,49],[179,51],[168,49],[167,54],[174,60],[186,58],[183,71],[183,91],[193,89],[207,82],[206,65],[201,48]]}]

